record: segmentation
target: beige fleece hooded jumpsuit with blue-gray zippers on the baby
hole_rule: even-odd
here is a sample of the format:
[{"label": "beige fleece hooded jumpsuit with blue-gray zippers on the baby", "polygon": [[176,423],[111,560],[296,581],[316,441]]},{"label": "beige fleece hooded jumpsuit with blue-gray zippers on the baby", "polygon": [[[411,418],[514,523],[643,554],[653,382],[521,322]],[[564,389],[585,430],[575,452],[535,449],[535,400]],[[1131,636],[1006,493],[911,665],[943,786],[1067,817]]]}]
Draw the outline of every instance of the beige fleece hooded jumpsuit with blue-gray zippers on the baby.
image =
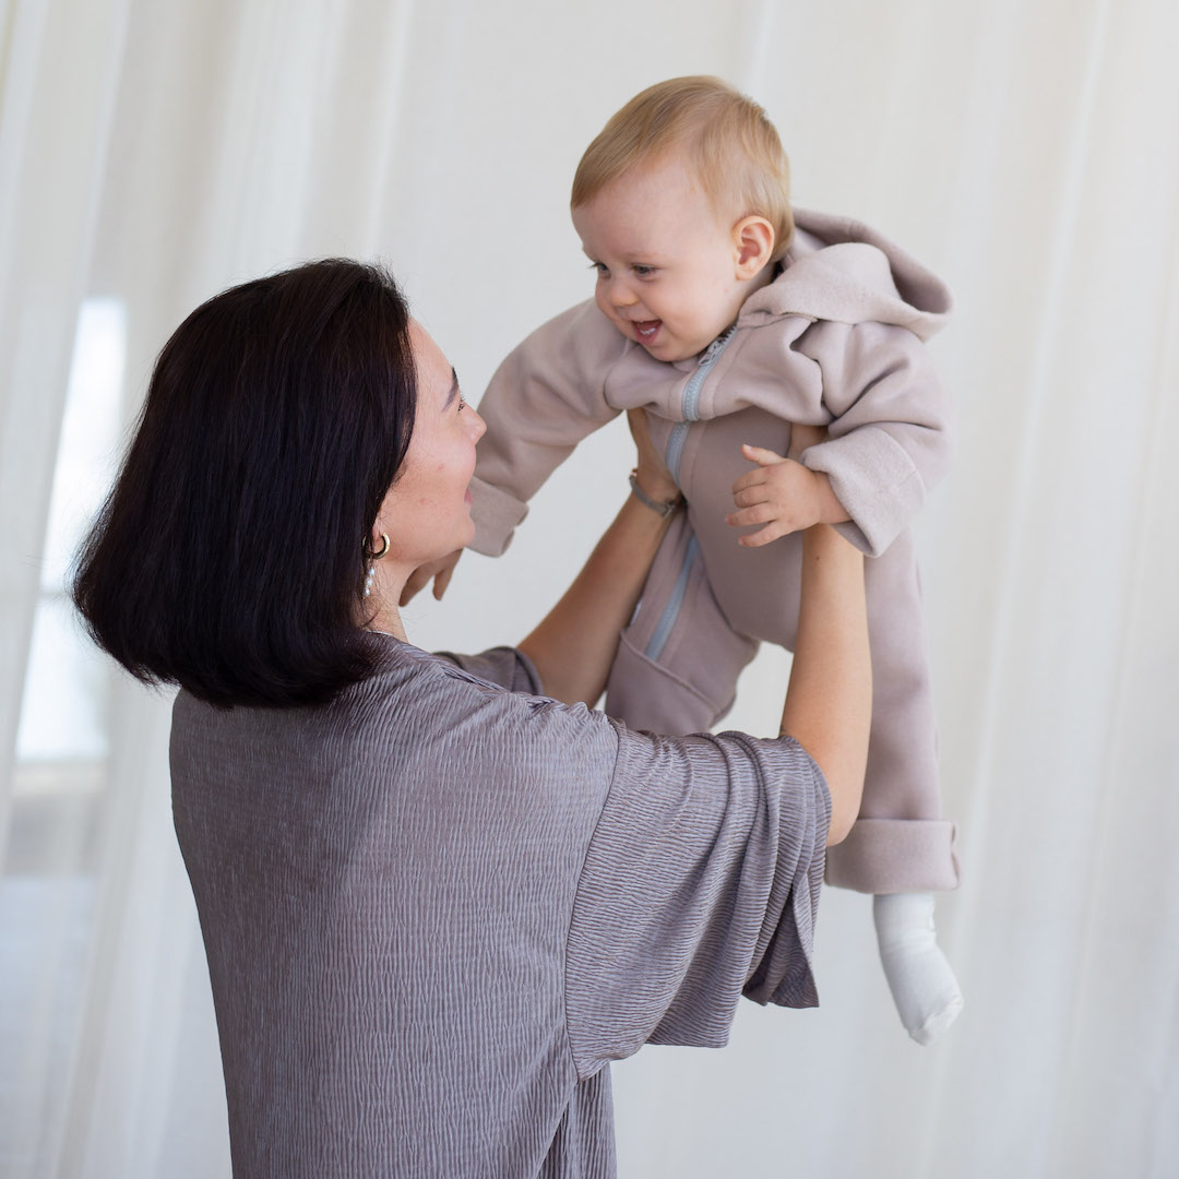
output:
[{"label": "beige fleece hooded jumpsuit with blue-gray zippers on the baby", "polygon": [[472,492],[477,552],[498,555],[527,501],[587,434],[647,410],[684,490],[639,610],[623,632],[606,711],[635,729],[710,729],[760,641],[791,650],[801,539],[737,544],[724,522],[749,469],[740,443],[785,454],[790,423],[825,426],[803,462],[826,473],[869,558],[872,727],[859,819],[828,852],[828,882],[864,893],[951,889],[941,816],[921,586],[908,523],[949,460],[950,407],[923,341],[949,312],[926,268],[867,226],[796,210],[782,272],[699,357],[666,363],[593,301],[549,321],[500,365],[480,403]]}]

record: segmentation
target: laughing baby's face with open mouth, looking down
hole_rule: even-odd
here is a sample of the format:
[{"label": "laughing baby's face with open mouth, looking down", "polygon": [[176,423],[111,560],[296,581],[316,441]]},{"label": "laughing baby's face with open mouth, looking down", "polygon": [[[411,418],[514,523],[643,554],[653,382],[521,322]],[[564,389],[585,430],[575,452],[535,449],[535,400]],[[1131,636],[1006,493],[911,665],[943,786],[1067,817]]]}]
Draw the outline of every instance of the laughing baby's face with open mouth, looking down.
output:
[{"label": "laughing baby's face with open mouth, looking down", "polygon": [[732,226],[674,157],[624,173],[573,210],[573,225],[598,307],[656,360],[696,356],[737,318],[749,291]]}]

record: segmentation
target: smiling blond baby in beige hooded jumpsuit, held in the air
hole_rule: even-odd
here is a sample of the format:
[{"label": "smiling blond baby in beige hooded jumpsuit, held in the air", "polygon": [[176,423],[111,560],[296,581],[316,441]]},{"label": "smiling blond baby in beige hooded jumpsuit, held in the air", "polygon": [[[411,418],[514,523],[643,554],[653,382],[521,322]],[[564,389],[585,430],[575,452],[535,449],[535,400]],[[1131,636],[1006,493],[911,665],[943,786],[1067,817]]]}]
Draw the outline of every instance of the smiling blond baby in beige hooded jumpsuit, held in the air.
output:
[{"label": "smiling blond baby in beige hooded jumpsuit, held in the air", "polygon": [[[959,867],[907,526],[949,457],[949,407],[922,344],[948,291],[865,226],[792,210],[772,124],[714,78],[627,103],[581,158],[572,212],[594,299],[533,332],[492,380],[474,547],[501,553],[580,439],[646,409],[687,508],[621,635],[605,706],[665,733],[716,724],[759,641],[792,647],[802,529],[832,523],[874,558],[863,809],[826,872],[876,895],[885,976],[928,1043],[962,1006],[931,896],[957,885]],[[791,423],[826,432],[801,461],[782,457]]]}]

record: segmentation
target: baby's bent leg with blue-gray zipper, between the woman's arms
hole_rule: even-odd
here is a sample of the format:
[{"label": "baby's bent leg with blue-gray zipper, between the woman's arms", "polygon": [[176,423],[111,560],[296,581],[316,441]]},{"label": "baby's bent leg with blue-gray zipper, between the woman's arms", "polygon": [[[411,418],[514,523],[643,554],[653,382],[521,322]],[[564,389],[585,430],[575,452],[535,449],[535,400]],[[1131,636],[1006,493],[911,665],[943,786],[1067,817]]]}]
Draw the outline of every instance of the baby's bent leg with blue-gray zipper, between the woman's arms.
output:
[{"label": "baby's bent leg with blue-gray zipper, between the woman's arms", "polygon": [[729,625],[709,586],[685,513],[664,538],[643,598],[619,639],[606,712],[632,729],[707,731],[732,707],[757,644]]}]

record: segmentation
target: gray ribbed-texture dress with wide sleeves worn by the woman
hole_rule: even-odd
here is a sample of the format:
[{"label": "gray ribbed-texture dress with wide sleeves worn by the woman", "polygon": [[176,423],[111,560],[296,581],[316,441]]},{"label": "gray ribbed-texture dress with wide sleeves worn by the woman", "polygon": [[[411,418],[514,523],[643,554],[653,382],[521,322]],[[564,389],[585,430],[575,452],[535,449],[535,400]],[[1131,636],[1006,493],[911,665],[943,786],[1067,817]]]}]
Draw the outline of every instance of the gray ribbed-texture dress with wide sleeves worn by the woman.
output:
[{"label": "gray ribbed-texture dress with wide sleeves worn by the woman", "polygon": [[328,707],[177,697],[237,1179],[610,1177],[611,1060],[815,1005],[806,753],[539,691],[388,639]]}]

